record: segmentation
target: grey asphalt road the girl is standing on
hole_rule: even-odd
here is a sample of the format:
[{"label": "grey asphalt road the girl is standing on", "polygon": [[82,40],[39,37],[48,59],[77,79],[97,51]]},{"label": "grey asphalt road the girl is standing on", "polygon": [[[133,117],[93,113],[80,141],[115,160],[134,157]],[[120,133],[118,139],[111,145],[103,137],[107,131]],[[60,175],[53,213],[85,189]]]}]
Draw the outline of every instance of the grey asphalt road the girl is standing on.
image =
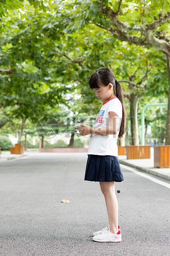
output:
[{"label": "grey asphalt road the girl is standing on", "polygon": [[115,183],[122,242],[92,241],[108,220],[99,183],[84,181],[86,159],[41,153],[0,163],[0,256],[170,256],[170,189],[126,168]]}]

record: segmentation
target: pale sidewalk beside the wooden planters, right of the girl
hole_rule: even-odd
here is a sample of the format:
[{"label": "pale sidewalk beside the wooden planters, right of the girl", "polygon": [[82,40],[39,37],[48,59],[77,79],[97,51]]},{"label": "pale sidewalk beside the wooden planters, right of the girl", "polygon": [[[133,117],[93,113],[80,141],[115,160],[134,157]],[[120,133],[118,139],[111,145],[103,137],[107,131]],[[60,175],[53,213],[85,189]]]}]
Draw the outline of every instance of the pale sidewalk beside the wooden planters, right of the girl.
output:
[{"label": "pale sidewalk beside the wooden planters, right of the girl", "polygon": [[153,156],[150,159],[127,159],[126,156],[119,156],[119,163],[170,180],[170,168],[154,168]]}]

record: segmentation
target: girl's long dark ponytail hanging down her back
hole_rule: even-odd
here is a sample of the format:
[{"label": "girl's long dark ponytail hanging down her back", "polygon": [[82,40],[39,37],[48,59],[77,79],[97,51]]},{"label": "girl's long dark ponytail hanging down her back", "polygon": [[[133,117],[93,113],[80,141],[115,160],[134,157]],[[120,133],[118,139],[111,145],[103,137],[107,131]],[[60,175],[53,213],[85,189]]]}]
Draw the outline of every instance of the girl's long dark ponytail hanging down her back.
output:
[{"label": "girl's long dark ponytail hanging down her back", "polygon": [[122,120],[121,120],[119,135],[118,135],[118,138],[121,139],[121,137],[123,137],[123,134],[125,133],[126,110],[123,102],[123,88],[121,87],[120,83],[117,80],[115,81],[115,85],[116,85],[116,90],[115,90],[116,97],[118,97],[118,99],[122,104]]}]

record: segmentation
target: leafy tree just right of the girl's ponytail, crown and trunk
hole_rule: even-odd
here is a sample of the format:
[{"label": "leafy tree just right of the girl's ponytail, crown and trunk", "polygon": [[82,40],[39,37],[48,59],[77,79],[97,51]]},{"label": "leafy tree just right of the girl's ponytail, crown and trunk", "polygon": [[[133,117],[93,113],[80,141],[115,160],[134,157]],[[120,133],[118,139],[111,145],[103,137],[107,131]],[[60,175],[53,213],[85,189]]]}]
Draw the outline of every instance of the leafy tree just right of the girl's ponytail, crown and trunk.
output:
[{"label": "leafy tree just right of the girl's ponytail, crown and trunk", "polygon": [[[168,83],[166,83],[166,70],[163,58],[158,50],[147,49],[146,47],[140,47],[136,45],[130,45],[123,43],[124,47],[127,47],[128,51],[122,52],[123,58],[123,72],[121,74],[123,79],[119,82],[127,83],[125,94],[130,103],[130,127],[132,145],[139,145],[138,136],[138,121],[137,121],[137,106],[138,101],[142,98],[145,102],[145,98],[149,95],[154,97],[155,95],[168,95]],[[121,61],[121,60],[120,60]],[[119,62],[120,62],[119,61]],[[118,63],[119,66],[120,63]],[[119,71],[116,71],[119,73]]]}]

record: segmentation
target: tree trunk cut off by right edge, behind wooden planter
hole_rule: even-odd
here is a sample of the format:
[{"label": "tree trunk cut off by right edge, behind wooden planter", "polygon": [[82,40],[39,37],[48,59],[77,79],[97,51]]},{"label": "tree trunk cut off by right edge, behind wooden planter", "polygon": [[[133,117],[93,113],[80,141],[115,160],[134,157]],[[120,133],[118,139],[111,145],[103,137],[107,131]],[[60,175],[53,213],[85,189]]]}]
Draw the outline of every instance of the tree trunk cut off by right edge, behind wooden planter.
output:
[{"label": "tree trunk cut off by right edge, behind wooden planter", "polygon": [[166,118],[165,145],[170,145],[170,55],[165,54],[165,56],[167,60],[167,73],[169,78],[168,111],[167,111],[167,118]]}]

